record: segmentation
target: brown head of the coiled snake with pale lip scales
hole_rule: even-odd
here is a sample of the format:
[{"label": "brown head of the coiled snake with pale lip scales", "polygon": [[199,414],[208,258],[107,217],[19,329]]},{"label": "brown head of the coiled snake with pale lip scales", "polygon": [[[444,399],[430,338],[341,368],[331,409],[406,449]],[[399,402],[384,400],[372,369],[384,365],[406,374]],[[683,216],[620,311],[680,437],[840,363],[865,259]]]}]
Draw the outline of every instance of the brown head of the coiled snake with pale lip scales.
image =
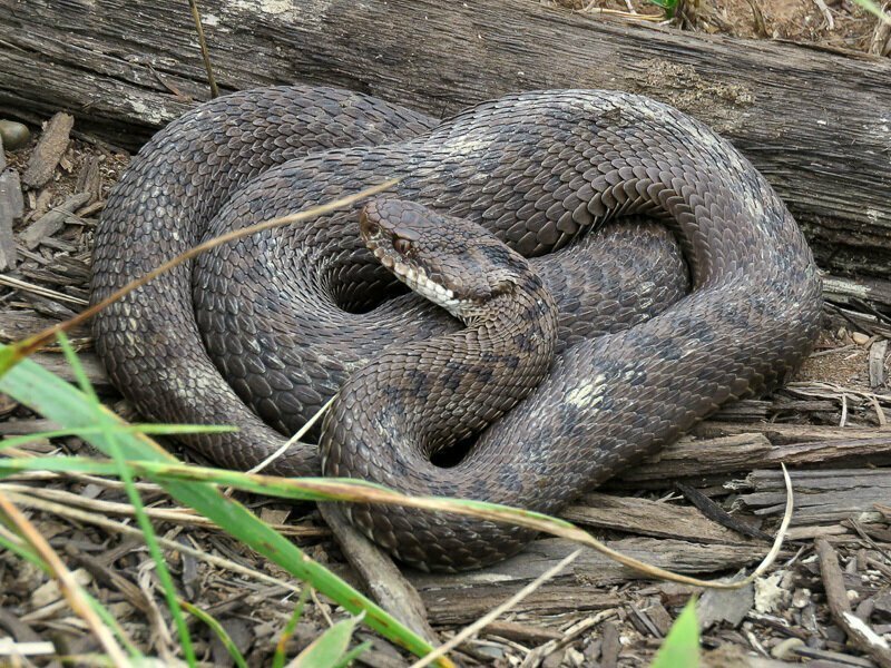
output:
[{"label": "brown head of the coiled snake with pale lip scales", "polygon": [[463,218],[393,197],[378,197],[360,216],[360,233],[378,261],[414,292],[467,322],[484,304],[530,279],[527,261]]}]

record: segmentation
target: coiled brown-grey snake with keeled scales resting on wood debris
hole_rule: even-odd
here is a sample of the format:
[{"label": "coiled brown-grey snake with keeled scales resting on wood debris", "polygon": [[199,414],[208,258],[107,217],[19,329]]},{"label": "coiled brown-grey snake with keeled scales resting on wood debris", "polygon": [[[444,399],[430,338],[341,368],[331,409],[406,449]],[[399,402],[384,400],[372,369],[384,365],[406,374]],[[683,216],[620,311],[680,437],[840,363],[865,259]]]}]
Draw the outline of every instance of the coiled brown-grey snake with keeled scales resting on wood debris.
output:
[{"label": "coiled brown-grey snake with keeled scales resting on wood debris", "polygon": [[[783,383],[819,332],[819,271],[764,176],[705,124],[606,90],[512,94],[444,120],[300,85],[203,102],[112,189],[91,302],[216,235],[392,178],[372,200],[217,246],[101,311],[94,337],[112,383],[151,420],[237,425],[180,440],[242,470],[336,394],[321,430],[264,472],[555,513]],[[522,263],[532,288],[490,281]],[[482,311],[464,317],[467,299]],[[424,570],[481,568],[536,536],[345,509]]]}]

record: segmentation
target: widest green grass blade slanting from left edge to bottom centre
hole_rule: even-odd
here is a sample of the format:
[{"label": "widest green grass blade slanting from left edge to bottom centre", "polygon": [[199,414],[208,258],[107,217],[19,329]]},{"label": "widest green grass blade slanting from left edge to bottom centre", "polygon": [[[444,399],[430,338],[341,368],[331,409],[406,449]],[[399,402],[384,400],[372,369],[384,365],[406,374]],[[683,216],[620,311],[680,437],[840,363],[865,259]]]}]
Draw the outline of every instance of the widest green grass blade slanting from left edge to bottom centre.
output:
[{"label": "widest green grass blade slanting from left edge to bottom centre", "polygon": [[[8,350],[8,346],[0,347],[0,355],[4,350]],[[81,392],[28,360],[21,361],[7,375],[0,377],[0,392],[9,394],[45,418],[69,429],[94,426],[104,419],[111,423],[123,423],[108,409],[91,405]],[[118,440],[128,460],[168,465],[176,462],[157,443],[141,434],[118,434]],[[89,436],[88,441],[110,455],[110,446],[104,434]],[[384,638],[417,656],[431,651],[431,646],[417,633],[327,569],[312,561],[296,546],[266,527],[242,504],[224,498],[213,485],[178,480],[168,480],[163,484],[177,501],[196,509],[231,536],[264,554],[292,576],[309,582],[344,609],[353,613],[364,610],[364,622]],[[452,662],[440,659],[440,665],[452,666]]]}]

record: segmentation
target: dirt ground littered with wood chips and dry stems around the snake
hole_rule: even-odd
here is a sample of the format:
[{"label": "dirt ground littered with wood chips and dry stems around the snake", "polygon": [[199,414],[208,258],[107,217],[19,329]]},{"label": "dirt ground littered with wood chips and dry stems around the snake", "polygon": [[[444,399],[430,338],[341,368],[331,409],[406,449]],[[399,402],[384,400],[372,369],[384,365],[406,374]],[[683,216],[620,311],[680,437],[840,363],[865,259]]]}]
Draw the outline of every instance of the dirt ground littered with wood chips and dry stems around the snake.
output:
[{"label": "dirt ground littered with wood chips and dry stems around the snake", "polygon": [[[813,0],[687,2],[681,20],[695,31],[888,52],[888,33],[874,17],[848,0],[826,0],[825,4],[823,10]],[[591,20],[598,20],[597,8],[629,12],[624,0],[570,7],[590,13]],[[640,0],[633,0],[630,10],[657,13],[657,8]],[[609,20],[636,19],[610,14]],[[27,169],[41,134],[40,128],[31,130],[33,137],[25,147],[6,154],[8,167],[19,173]],[[0,274],[0,341],[21,338],[82,307],[88,296],[92,229],[128,161],[128,155],[79,136],[75,126],[49,181],[25,191],[25,216],[14,227],[19,264],[14,272]],[[27,247],[21,235],[81,193],[89,193],[89,198],[70,210],[61,226]],[[2,283],[7,277],[20,283]],[[887,377],[877,382],[875,376],[877,365],[879,371],[888,370],[883,341],[891,318],[884,314],[885,320],[879,318],[872,326],[869,323],[873,321],[858,317],[854,311],[828,308],[814,354],[790,387],[728,406],[697,429],[686,445],[610,483],[603,495],[586,497],[566,513],[567,519],[620,549],[706,578],[727,577],[743,568],[751,570],[768,547],[760,532],[776,530],[782,490],[775,487],[779,459],[771,458],[802,466],[796,482],[801,515],[770,573],[753,588],[727,596],[709,592],[701,600],[707,665],[877,665],[862,645],[846,636],[840,615],[828,605],[826,591],[833,587],[841,587],[863,625],[884,641],[891,639],[891,474],[881,468],[891,458],[885,418],[891,410],[891,387]],[[89,332],[72,334],[89,362]],[[131,416],[100,371],[90,371],[90,377],[104,400]],[[0,435],[46,428],[31,412],[0,395]],[[712,449],[685,454],[684,448],[696,443],[711,444],[714,454]],[[721,454],[724,446],[730,449]],[[738,454],[748,452],[746,449],[751,456]],[[77,439],[41,439],[28,450],[41,454],[89,452]],[[721,459],[725,455],[738,461],[728,463]],[[693,461],[697,459],[703,461]],[[704,475],[694,464],[721,472]],[[708,469],[712,464],[715,468]],[[682,484],[675,485],[675,481]],[[696,491],[704,501],[696,498]],[[32,474],[1,482],[0,492],[27,509],[42,536],[137,644],[160,657],[164,665],[174,662],[175,635],[157,574],[138,532],[134,533],[131,512],[119,485],[82,475]],[[293,611],[298,583],[200,518],[175,508],[153,485],[146,485],[144,494],[159,534],[180,548],[168,549],[166,554],[183,596],[222,621],[249,657],[249,665],[268,665]],[[310,557],[353,578],[316,511],[265,499],[245,501],[262,518],[281,525]],[[616,520],[617,508],[626,509],[631,519]],[[558,542],[540,542],[541,547],[532,550],[536,574],[566,552]],[[835,570],[828,567],[833,559],[838,560]],[[444,640],[528,583],[530,576],[525,569],[529,561],[511,562],[488,578],[410,574],[409,579],[420,590],[430,621]],[[526,605],[467,642],[459,659],[468,666],[499,667],[646,665],[694,591],[642,580],[605,561],[588,561],[540,588]],[[342,617],[331,601],[313,595],[288,644],[292,654],[306,647],[332,619]],[[210,631],[194,619],[190,627],[198,656],[207,665],[232,665]],[[4,637],[20,645],[49,641],[52,650],[10,658],[2,654]],[[363,665],[409,662],[370,632],[361,631],[359,639],[374,644],[360,659]],[[98,650],[84,622],[65,605],[58,586],[13,554],[0,552],[0,666],[58,666],[60,655],[89,665],[89,655]]]}]

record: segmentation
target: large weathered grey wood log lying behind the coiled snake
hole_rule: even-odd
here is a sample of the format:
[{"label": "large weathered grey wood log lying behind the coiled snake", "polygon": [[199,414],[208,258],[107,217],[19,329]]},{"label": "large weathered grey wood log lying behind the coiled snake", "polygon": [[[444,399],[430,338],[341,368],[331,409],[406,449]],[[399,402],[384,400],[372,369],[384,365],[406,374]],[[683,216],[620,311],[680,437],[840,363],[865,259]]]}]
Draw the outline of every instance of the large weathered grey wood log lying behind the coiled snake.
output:
[{"label": "large weathered grey wood log lying behind the coiled snake", "polygon": [[[204,0],[224,90],[305,81],[433,115],[535,88],[670,102],[767,176],[823,266],[891,273],[891,63],[813,48],[605,23],[529,0]],[[179,0],[0,2],[0,111],[133,147],[207,95]]]}]

